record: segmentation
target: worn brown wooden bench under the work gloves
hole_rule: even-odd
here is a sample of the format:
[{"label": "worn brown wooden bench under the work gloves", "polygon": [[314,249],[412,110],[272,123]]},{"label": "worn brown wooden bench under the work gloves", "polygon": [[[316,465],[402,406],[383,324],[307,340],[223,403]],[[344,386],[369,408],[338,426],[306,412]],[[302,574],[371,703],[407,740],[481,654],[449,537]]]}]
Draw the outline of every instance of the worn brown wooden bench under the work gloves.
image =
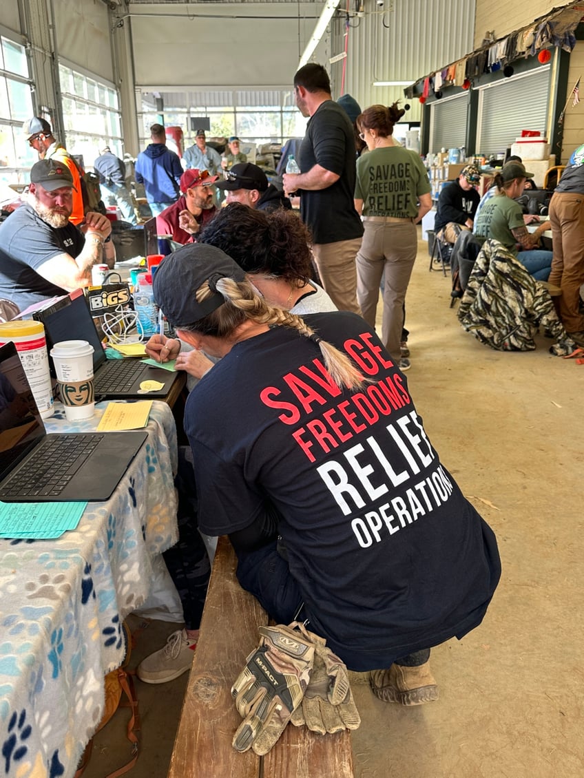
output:
[{"label": "worn brown wooden bench under the work gloves", "polygon": [[231,745],[241,724],[230,689],[268,623],[235,577],[227,537],[219,539],[201,636],[185,692],[168,778],[353,778],[350,732],[318,735],[288,724],[266,756]]}]

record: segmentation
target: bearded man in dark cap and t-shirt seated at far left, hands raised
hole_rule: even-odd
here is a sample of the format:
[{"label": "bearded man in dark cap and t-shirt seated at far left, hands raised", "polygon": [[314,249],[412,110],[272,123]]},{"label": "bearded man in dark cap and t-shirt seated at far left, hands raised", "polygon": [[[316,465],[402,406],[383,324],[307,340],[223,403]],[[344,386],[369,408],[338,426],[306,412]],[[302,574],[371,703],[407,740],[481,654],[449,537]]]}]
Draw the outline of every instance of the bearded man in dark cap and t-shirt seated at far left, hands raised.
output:
[{"label": "bearded man in dark cap and t-shirt seated at far left, hands raised", "polygon": [[72,195],[69,169],[57,159],[42,159],[30,170],[26,203],[0,226],[0,298],[21,311],[89,286],[93,265],[113,267],[109,219],[88,212],[79,227],[73,225]]}]

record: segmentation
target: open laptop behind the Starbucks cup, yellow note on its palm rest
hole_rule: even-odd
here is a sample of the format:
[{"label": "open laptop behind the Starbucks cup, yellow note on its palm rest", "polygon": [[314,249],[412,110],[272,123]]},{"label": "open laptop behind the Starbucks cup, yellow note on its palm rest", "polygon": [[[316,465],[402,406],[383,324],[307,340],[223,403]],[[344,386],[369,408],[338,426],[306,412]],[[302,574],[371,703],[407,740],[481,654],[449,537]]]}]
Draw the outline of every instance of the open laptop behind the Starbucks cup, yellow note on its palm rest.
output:
[{"label": "open laptop behind the Starbucks cup, yellow note on its palm rest", "polygon": [[[107,359],[100,336],[87,307],[81,289],[62,297],[43,310],[35,311],[33,318],[42,321],[47,336],[47,349],[63,340],[86,340],[93,345],[93,384],[96,400],[164,399],[180,373],[151,367],[140,359]],[[52,359],[51,359],[52,365]],[[142,381],[162,384],[160,389],[140,391]]]}]

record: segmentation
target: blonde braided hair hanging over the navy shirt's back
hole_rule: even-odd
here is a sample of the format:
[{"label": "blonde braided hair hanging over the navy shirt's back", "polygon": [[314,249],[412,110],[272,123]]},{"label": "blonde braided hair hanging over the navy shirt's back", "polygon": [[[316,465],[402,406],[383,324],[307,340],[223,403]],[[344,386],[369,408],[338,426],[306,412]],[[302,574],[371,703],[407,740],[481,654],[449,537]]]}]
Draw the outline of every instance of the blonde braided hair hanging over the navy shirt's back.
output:
[{"label": "blonde braided hair hanging over the navy shirt's back", "polygon": [[190,327],[181,327],[181,329],[224,338],[231,335],[245,321],[255,321],[256,324],[266,324],[268,327],[288,327],[318,345],[325,368],[337,386],[348,389],[359,389],[364,386],[364,377],[346,354],[336,349],[332,343],[319,338],[300,316],[290,314],[289,310],[268,305],[266,300],[255,293],[248,281],[211,278],[197,289],[195,293],[197,302],[202,303],[212,296],[215,290],[223,296],[225,303]]}]

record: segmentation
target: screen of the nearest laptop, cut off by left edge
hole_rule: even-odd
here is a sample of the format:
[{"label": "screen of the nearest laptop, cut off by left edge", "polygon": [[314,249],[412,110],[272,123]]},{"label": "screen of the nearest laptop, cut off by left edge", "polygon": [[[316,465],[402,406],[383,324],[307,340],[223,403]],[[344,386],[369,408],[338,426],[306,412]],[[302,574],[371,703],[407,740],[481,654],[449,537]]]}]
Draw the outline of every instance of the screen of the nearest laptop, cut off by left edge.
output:
[{"label": "screen of the nearest laptop, cut off by left edge", "polygon": [[0,480],[44,437],[30,384],[14,343],[0,346]]}]

